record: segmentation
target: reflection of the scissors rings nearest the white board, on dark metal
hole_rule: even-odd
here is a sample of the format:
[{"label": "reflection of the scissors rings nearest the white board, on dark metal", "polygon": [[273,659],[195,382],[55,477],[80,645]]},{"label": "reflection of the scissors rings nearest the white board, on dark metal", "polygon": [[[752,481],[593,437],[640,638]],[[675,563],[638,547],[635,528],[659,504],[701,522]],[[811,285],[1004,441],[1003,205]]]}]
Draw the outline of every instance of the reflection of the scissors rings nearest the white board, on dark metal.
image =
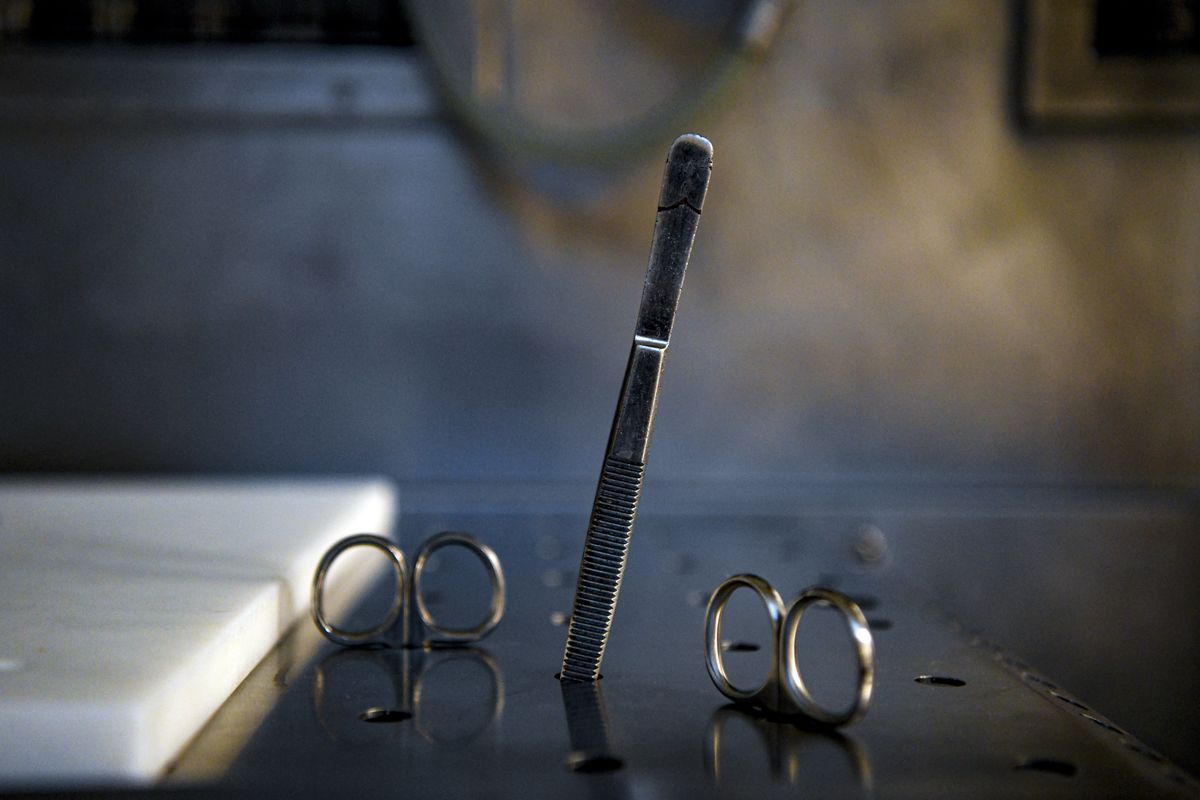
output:
[{"label": "reflection of the scissors rings nearest the white board, on dark metal", "polygon": [[[370,679],[337,673],[361,664],[382,676],[385,688],[365,687]],[[452,692],[439,692],[438,673],[466,664],[482,675],[486,688],[476,681],[456,680]],[[334,685],[338,684],[337,688]],[[437,699],[431,700],[431,694]],[[446,646],[430,650],[347,649],[336,650],[317,664],[312,680],[313,715],[330,739],[342,744],[377,745],[391,740],[413,722],[413,728],[431,744],[467,744],[478,739],[504,714],[504,673],[487,650]],[[449,727],[481,717],[464,729]],[[445,722],[450,726],[443,724]],[[368,722],[372,724],[362,724]],[[398,723],[398,724],[397,724]]]}]

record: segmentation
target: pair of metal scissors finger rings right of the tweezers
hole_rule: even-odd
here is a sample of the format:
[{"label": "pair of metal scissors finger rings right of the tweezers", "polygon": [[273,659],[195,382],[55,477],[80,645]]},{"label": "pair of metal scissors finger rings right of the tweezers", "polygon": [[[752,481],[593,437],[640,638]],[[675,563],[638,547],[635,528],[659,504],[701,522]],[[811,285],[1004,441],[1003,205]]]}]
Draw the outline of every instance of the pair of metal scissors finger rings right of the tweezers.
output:
[{"label": "pair of metal scissors finger rings right of the tweezers", "polygon": [[[725,656],[721,654],[721,621],[725,604],[740,587],[754,589],[770,615],[772,637],[770,672],[762,686],[754,690],[742,690],[730,682],[725,674]],[[854,655],[858,657],[858,692],[854,703],[842,712],[828,711],[812,699],[799,664],[796,662],[796,631],[800,616],[812,604],[832,606],[841,612],[854,642]],[[866,625],[863,609],[846,595],[832,589],[811,588],[784,607],[784,599],[775,587],[756,575],[736,575],[713,593],[704,612],[704,649],[708,675],[725,697],[736,703],[758,706],[773,714],[803,715],[822,724],[839,726],[854,722],[866,714],[871,704],[871,688],[875,682],[875,642]]]}]

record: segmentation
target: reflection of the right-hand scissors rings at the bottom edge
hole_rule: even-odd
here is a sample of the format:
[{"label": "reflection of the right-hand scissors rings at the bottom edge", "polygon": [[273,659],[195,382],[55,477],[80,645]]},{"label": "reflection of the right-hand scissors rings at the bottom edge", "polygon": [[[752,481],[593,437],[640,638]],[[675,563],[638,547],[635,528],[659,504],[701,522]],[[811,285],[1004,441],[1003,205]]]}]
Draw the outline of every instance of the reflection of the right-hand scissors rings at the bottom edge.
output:
[{"label": "reflection of the right-hand scissors rings at the bottom edge", "polygon": [[846,754],[846,760],[853,771],[856,783],[866,794],[874,790],[871,760],[866,750],[857,739],[828,728],[802,728],[788,722],[768,718],[742,706],[724,705],[709,718],[704,746],[704,772],[718,783],[728,781],[725,770],[725,758],[728,753],[726,724],[732,720],[742,720],[758,734],[758,741],[767,753],[772,780],[776,783],[798,786],[805,776],[805,751],[811,751],[815,742],[835,745]]}]

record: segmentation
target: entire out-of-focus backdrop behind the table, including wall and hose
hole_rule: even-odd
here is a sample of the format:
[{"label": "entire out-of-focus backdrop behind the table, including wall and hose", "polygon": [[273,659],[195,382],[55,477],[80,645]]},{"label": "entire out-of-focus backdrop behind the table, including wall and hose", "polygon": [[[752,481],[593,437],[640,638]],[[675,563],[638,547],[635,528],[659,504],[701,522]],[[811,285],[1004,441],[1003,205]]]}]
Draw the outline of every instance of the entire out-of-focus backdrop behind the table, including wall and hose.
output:
[{"label": "entire out-of-focus backdrop behind the table, including wall and hose", "polygon": [[1198,121],[1195,0],[0,0],[0,469],[584,511],[695,131],[646,503],[866,541],[1195,771]]}]

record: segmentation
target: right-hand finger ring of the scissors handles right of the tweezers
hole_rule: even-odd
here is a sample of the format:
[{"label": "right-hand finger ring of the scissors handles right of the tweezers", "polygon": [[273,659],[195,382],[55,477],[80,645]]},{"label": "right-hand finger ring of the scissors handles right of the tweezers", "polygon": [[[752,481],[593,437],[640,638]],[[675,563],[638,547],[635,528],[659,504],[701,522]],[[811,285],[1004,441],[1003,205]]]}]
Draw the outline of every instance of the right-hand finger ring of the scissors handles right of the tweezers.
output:
[{"label": "right-hand finger ring of the scissors handles right of the tweezers", "polygon": [[[846,628],[854,643],[854,656],[858,658],[858,692],[854,694],[853,704],[845,711],[829,711],[812,699],[796,661],[797,631],[800,626],[800,618],[810,606],[830,606],[841,612]],[[848,724],[860,720],[866,714],[875,687],[875,639],[871,637],[871,628],[858,603],[833,589],[820,587],[805,589],[787,608],[787,615],[784,618],[781,627],[780,646],[784,651],[784,685],[792,703],[799,706],[802,714],[828,726]]]}]

